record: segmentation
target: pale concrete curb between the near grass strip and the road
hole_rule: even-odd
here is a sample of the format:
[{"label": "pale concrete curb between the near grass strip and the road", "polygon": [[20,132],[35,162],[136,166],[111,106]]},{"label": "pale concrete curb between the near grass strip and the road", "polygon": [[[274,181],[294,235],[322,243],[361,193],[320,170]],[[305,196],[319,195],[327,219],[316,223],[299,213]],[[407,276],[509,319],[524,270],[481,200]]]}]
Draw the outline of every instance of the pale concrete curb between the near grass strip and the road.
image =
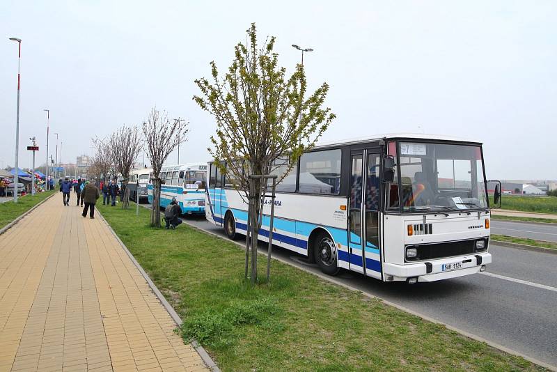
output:
[{"label": "pale concrete curb between the near grass strip and the road", "polygon": [[[235,241],[233,241],[233,240],[228,240],[228,239],[226,239],[226,238],[223,238],[221,235],[218,235],[218,234],[216,234],[216,233],[213,233],[212,231],[203,230],[203,228],[200,228],[200,227],[198,227],[198,226],[195,226],[195,225],[190,224],[190,223],[187,221],[187,219],[182,219],[182,221],[184,221],[184,223],[187,224],[187,226],[190,226],[191,228],[195,228],[195,229],[198,230],[198,231],[203,231],[204,233],[213,235],[213,236],[215,236],[215,237],[217,237],[217,238],[219,238],[219,239],[226,240],[226,241],[228,241],[228,242],[233,242],[235,245],[237,245],[237,246],[240,247],[241,249],[244,249],[244,248],[245,248],[245,246],[242,245],[242,244],[240,244],[240,242],[235,242]],[[207,222],[207,223],[209,223],[209,222]],[[536,248],[537,248],[537,247],[536,247]],[[261,252],[261,251],[259,251],[259,249],[258,249],[258,254],[262,254],[262,255],[263,255],[264,253]],[[329,277],[329,276],[327,276],[327,275],[320,274],[320,273],[317,273],[317,272],[311,272],[310,270],[304,268],[303,266],[293,265],[292,262],[290,262],[290,261],[288,261],[288,260],[285,260],[285,259],[283,259],[283,258],[280,258],[280,257],[272,257],[272,258],[273,258],[274,260],[276,260],[276,261],[280,261],[280,262],[285,263],[285,264],[287,264],[287,265],[293,266],[293,267],[295,267],[295,268],[297,268],[297,269],[299,269],[299,270],[304,270],[305,272],[308,272],[309,274],[315,275],[316,277],[319,277],[319,278],[321,278],[321,279],[324,279],[324,280],[326,280],[326,281],[329,281],[329,282],[331,282],[331,283],[333,283],[333,284],[336,284],[336,285],[341,286],[341,287],[343,287],[343,288],[346,288],[346,289],[348,289],[348,290],[352,290],[353,292],[359,292],[359,293],[361,293],[362,295],[364,295],[364,296],[366,296],[366,297],[368,297],[368,298],[376,298],[377,300],[381,300],[381,302],[383,302],[384,304],[387,304],[387,305],[389,305],[389,306],[391,306],[391,307],[394,307],[395,309],[399,309],[399,310],[405,311],[405,312],[407,312],[407,313],[410,313],[410,314],[412,314],[412,315],[414,315],[414,316],[418,316],[418,317],[420,317],[420,318],[422,318],[422,319],[424,319],[424,320],[427,320],[427,321],[429,321],[429,322],[431,322],[431,323],[434,323],[434,324],[444,325],[448,330],[452,330],[452,331],[458,332],[458,333],[462,334],[463,336],[469,337],[470,339],[473,339],[473,340],[476,340],[476,341],[480,341],[480,342],[486,343],[487,345],[491,346],[492,348],[496,348],[496,349],[501,350],[501,351],[503,351],[503,352],[507,352],[508,354],[512,354],[512,355],[516,355],[516,356],[518,356],[518,357],[522,357],[522,358],[528,360],[529,362],[532,362],[532,363],[534,363],[534,364],[538,364],[538,366],[542,366],[542,367],[544,367],[545,369],[549,369],[550,371],[557,371],[557,366],[552,366],[551,364],[547,364],[546,362],[542,362],[541,360],[535,359],[535,358],[533,358],[533,357],[528,357],[527,355],[524,355],[524,354],[522,354],[521,352],[517,352],[516,350],[512,350],[512,349],[507,348],[507,347],[505,347],[505,346],[503,346],[503,345],[499,345],[499,343],[495,343],[495,342],[493,342],[493,341],[489,341],[489,340],[487,340],[487,339],[484,339],[483,337],[476,336],[476,334],[471,334],[471,333],[466,332],[466,331],[464,331],[464,330],[460,330],[460,328],[453,327],[452,325],[448,325],[447,323],[441,322],[440,320],[436,320],[436,319],[434,319],[434,318],[430,318],[429,316],[426,316],[426,315],[423,315],[422,313],[418,313],[417,311],[408,309],[407,307],[403,307],[402,305],[395,304],[395,303],[393,303],[393,302],[390,302],[389,300],[384,300],[382,297],[378,297],[378,296],[376,296],[376,295],[372,295],[372,294],[370,294],[370,293],[363,292],[362,290],[359,290],[359,289],[356,288],[356,287],[350,286],[349,284],[344,284],[344,283],[342,283],[341,281],[337,281],[336,279],[334,279],[334,278],[332,278],[332,277]]]}]

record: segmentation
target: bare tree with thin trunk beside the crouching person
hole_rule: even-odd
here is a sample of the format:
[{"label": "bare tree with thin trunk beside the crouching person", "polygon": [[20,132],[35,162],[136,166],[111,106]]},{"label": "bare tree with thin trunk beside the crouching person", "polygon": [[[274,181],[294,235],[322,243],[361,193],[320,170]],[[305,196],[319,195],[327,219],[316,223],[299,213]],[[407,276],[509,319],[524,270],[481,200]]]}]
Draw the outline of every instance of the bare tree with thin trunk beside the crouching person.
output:
[{"label": "bare tree with thin trunk beside the crouching person", "polygon": [[189,129],[184,121],[168,120],[166,111],[151,109],[147,121],[143,123],[143,135],[147,156],[151,162],[153,201],[151,226],[160,227],[161,169],[168,155],[182,142],[186,141]]}]

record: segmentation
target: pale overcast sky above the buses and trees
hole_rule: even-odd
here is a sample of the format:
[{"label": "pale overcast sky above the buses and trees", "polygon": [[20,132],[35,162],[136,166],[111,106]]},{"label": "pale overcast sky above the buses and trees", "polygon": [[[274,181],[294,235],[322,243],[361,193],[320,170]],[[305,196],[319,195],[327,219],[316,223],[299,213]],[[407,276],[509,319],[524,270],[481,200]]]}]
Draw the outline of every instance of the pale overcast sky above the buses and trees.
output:
[{"label": "pale overcast sky above the buses and trees", "polygon": [[[156,104],[190,123],[181,162],[209,159],[212,118],[191,100],[209,62],[230,65],[256,22],[292,71],[330,85],[334,141],[385,132],[478,139],[488,178],[556,179],[555,1],[0,2],[0,166],[14,164],[17,43],[22,38],[19,166],[38,138],[45,162],[92,154],[91,137],[139,124]],[[60,149],[58,144],[58,151]],[[168,164],[177,161],[174,153]]]}]

